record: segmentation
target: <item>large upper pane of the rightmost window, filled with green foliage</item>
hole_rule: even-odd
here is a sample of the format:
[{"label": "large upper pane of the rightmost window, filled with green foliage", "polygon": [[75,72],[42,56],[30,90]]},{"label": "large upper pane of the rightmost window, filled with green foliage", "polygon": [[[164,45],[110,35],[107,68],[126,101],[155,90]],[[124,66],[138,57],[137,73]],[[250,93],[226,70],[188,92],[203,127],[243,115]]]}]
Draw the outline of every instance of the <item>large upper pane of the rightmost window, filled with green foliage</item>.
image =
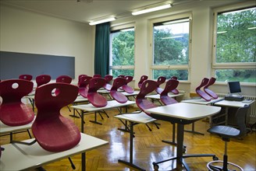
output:
[{"label": "large upper pane of the rightmost window, filled with green foliage", "polygon": [[255,62],[256,8],[219,13],[216,63]]}]

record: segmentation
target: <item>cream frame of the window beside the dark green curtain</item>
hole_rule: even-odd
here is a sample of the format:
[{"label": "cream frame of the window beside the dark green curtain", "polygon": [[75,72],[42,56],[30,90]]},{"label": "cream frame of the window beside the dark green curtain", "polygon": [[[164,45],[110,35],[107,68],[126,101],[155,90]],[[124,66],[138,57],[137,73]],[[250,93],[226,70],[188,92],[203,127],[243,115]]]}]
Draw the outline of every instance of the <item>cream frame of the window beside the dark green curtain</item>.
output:
[{"label": "cream frame of the window beside the dark green curtain", "polygon": [[[133,75],[135,74],[135,31],[136,31],[136,27],[135,27],[135,23],[126,23],[126,24],[121,24],[118,26],[111,26],[110,27],[110,33],[113,32],[118,32],[119,30],[126,30],[126,29],[134,29],[134,61],[133,64],[134,65],[115,65],[115,66],[111,66],[111,62],[112,61],[112,48],[109,47],[109,74],[112,75],[112,70],[133,70]],[[109,45],[112,47],[112,41],[109,39]]]}]

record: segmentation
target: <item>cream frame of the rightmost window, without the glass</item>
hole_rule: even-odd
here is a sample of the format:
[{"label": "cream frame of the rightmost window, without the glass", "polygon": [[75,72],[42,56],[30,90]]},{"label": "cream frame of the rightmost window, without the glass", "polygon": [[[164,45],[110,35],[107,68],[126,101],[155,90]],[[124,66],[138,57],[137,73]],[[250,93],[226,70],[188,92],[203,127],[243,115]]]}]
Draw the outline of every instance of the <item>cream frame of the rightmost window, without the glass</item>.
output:
[{"label": "cream frame of the rightmost window, without the glass", "polygon": [[[217,44],[217,16],[219,13],[231,12],[240,9],[250,9],[256,5],[252,2],[244,2],[235,5],[226,5],[212,10],[213,12],[213,35],[212,35],[212,77],[215,77],[215,71],[218,69],[255,69],[256,62],[216,62],[216,44]],[[224,83],[220,82],[219,83]],[[242,85],[255,86],[255,82],[241,82]]]}]

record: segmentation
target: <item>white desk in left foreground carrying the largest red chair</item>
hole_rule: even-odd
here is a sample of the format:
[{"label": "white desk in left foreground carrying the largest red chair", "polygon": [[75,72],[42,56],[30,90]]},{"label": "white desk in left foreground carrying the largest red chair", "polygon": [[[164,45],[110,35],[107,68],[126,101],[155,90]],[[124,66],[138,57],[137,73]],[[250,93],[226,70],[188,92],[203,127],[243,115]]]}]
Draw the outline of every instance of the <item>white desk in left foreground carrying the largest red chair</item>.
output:
[{"label": "white desk in left foreground carrying the largest red chair", "polygon": [[[34,139],[30,139],[26,141],[30,142],[33,140]],[[82,153],[82,170],[84,171],[85,152],[106,144],[108,144],[108,141],[94,138],[87,134],[81,134],[80,143],[74,148],[64,152],[48,152],[41,148],[37,142],[34,143],[34,145],[23,145],[18,143],[2,145],[2,148],[5,148],[5,150],[2,151],[0,159],[0,170],[35,169],[48,163]]]}]

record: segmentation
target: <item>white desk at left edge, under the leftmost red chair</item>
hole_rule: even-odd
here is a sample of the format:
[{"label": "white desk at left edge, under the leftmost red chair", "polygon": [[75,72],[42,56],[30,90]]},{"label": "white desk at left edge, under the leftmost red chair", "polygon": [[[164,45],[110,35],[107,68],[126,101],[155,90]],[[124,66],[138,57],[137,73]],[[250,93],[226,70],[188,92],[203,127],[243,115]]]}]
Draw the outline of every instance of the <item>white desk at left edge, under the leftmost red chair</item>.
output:
[{"label": "white desk at left edge, under the leftmost red chair", "polygon": [[[36,117],[34,117],[34,120],[35,120],[35,118]],[[23,132],[23,131],[27,130],[27,132],[31,138],[29,129],[32,126],[34,120],[32,120],[29,124],[24,124],[24,125],[16,126],[16,127],[8,126],[6,124],[3,124],[2,121],[0,121],[0,134],[1,135],[10,134],[10,141],[12,141],[13,133]]]}]

